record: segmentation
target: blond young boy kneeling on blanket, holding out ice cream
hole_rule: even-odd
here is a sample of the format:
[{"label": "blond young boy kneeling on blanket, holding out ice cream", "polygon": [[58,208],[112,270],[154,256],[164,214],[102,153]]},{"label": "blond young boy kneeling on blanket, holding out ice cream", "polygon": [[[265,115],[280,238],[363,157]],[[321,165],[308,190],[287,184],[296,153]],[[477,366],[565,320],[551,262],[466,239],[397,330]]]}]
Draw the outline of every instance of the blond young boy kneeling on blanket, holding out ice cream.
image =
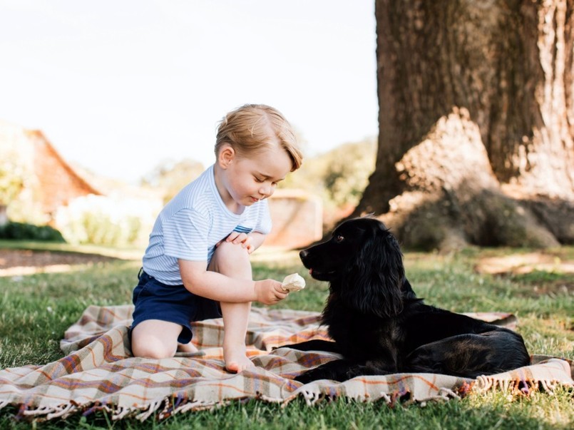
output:
[{"label": "blond young boy kneeling on blanket, holding out ice cream", "polygon": [[251,302],[287,297],[281,282],[252,280],[249,255],[271,230],[265,199],[299,168],[302,154],[280,112],[245,105],[221,121],[215,155],[155,221],[133,290],[132,352],[193,352],[190,321],[222,316],[225,367],[240,372],[254,366],[245,347]]}]

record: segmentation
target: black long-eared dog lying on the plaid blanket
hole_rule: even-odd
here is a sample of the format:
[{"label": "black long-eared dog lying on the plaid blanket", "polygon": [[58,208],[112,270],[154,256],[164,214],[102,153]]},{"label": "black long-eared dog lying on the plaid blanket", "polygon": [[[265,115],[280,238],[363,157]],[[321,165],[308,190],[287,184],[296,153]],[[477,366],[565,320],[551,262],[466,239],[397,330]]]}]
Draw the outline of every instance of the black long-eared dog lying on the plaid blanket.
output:
[{"label": "black long-eared dog lying on the plaid blanket", "polygon": [[300,374],[299,382],[399,372],[476,378],[530,363],[520,334],[416,298],[398,242],[375,218],[343,222],[331,240],[299,255],[312,277],[330,282],[322,324],[334,342],[287,347],[344,357]]}]

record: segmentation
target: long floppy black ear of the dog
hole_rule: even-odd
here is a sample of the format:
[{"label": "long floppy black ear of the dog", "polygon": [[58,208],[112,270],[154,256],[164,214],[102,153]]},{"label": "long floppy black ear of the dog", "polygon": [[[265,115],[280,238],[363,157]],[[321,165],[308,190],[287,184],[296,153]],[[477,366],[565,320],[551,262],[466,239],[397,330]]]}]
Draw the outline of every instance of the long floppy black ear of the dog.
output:
[{"label": "long floppy black ear of the dog", "polygon": [[364,242],[344,275],[341,295],[364,314],[394,317],[403,309],[403,255],[393,235],[382,227]]}]

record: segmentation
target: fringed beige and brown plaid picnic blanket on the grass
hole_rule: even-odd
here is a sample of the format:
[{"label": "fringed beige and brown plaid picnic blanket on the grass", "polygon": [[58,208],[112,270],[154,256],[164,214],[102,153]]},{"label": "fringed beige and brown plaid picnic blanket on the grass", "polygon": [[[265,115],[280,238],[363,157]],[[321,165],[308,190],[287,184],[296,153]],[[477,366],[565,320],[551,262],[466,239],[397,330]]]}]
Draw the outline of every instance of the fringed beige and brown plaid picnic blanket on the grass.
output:
[{"label": "fringed beige and brown plaid picnic blanket on the grass", "polygon": [[[531,366],[478,379],[442,374],[393,374],[357,377],[347,382],[292,378],[337,354],[278,348],[309,339],[328,339],[319,314],[288,309],[253,308],[247,333],[248,354],[256,367],[239,374],[226,372],[222,359],[222,319],[207,319],[193,327],[200,352],[170,359],[132,357],[127,339],[133,307],[90,306],[61,341],[65,357],[44,366],[0,371],[0,409],[19,406],[22,419],[53,419],[104,409],[114,419],[145,420],[260,399],[288,404],[302,396],[308,404],[335,396],[362,401],[429,401],[461,397],[469,391],[504,389],[528,393],[552,391],[556,384],[572,386],[574,365],[563,359],[534,356]],[[512,326],[511,314],[471,314]]]}]

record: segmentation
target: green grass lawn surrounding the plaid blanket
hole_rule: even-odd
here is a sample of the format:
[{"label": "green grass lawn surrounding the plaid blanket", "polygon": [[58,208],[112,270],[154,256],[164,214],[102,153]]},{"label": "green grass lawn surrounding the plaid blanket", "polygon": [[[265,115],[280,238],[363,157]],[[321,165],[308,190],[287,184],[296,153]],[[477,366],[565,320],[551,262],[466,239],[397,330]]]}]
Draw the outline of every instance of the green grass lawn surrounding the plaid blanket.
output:
[{"label": "green grass lawn surrounding the plaid blanket", "polygon": [[[0,243],[2,247],[4,243]],[[34,248],[34,244],[11,243]],[[39,245],[51,249],[50,245]],[[4,246],[6,247],[6,246]],[[73,247],[59,250],[75,250]],[[93,248],[88,252],[94,252]],[[480,275],[473,270],[482,256],[503,256],[515,250],[465,250],[452,255],[406,253],[406,271],[419,297],[455,312],[513,312],[518,332],[532,354],[574,359],[574,287],[572,275],[531,272],[527,275]],[[518,250],[516,252],[523,252]],[[555,250],[571,260],[574,247]],[[110,253],[108,252],[108,255]],[[257,254],[256,254],[257,255]],[[558,257],[557,257],[558,258]],[[45,364],[62,356],[63,332],[89,304],[130,302],[139,263],[106,262],[81,270],[24,277],[0,277],[0,367]],[[303,292],[289,295],[280,307],[320,311],[327,285],[311,280],[295,253],[260,253],[256,279],[281,280],[299,272],[307,280]],[[338,399],[307,406],[297,400],[281,408],[262,401],[233,403],[212,411],[175,415],[162,422],[133,419],[113,422],[103,412],[88,419],[19,423],[16,408],[0,410],[0,429],[568,429],[574,426],[573,392],[534,393],[509,399],[491,392],[465,399],[421,405],[362,404]]]}]

